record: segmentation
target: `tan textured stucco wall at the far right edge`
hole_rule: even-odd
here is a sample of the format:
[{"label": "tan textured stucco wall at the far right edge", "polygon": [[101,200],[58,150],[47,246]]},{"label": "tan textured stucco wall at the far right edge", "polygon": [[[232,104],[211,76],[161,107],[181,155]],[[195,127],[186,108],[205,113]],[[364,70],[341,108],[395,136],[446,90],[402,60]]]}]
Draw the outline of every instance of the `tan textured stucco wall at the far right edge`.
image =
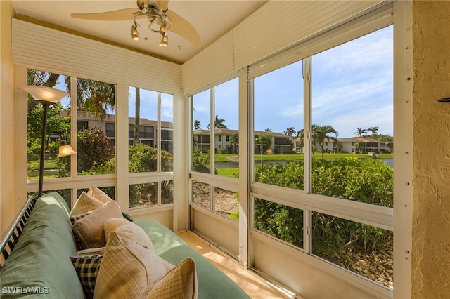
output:
[{"label": "tan textured stucco wall at the far right edge", "polygon": [[411,298],[450,296],[450,1],[413,2]]}]

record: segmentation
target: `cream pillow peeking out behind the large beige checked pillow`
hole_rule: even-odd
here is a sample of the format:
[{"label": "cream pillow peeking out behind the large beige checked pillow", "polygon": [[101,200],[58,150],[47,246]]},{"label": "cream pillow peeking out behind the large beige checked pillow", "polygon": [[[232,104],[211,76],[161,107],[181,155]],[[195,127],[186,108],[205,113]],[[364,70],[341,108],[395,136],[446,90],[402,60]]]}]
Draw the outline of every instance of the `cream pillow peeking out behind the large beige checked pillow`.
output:
[{"label": "cream pillow peeking out behind the large beige checked pillow", "polygon": [[146,246],[148,250],[155,252],[153,243],[148,237],[148,234],[142,227],[129,222],[124,218],[111,218],[105,222],[105,239],[108,242],[110,232],[117,232],[120,237],[135,241],[137,244]]}]

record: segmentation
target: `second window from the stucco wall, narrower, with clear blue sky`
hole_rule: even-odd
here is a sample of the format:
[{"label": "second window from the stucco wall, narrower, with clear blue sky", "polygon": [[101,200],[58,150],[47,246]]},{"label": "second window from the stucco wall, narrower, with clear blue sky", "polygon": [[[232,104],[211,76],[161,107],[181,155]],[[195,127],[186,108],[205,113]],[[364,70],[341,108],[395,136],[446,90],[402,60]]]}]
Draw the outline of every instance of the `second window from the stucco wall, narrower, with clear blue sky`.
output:
[{"label": "second window from the stucco wall, narrower, with clear blue sky", "polygon": [[[302,61],[254,79],[255,182],[303,189],[303,154],[293,140],[303,143]],[[300,145],[302,147],[302,145]],[[255,198],[253,227],[303,248],[303,211]]]}]

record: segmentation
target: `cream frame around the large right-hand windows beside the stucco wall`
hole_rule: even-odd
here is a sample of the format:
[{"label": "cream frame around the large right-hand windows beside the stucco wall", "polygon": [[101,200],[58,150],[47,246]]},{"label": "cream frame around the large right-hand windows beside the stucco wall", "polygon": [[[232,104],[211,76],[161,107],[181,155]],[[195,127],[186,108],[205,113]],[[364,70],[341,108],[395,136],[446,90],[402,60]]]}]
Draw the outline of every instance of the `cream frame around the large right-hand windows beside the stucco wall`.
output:
[{"label": "cream frame around the large right-hand windows beside the stucco wall", "polygon": [[[394,15],[395,11],[395,15]],[[393,16],[394,15],[394,16]],[[348,201],[345,199],[336,199],[333,197],[324,197],[319,194],[311,194],[309,190],[310,183],[305,181],[305,190],[288,190],[287,188],[277,187],[273,185],[264,185],[258,182],[250,182],[250,195],[274,201],[278,204],[300,208],[307,215],[304,217],[305,222],[308,221],[310,212],[318,211],[328,215],[335,215],[340,218],[361,222],[367,225],[373,225],[385,230],[394,231],[394,289],[392,292],[389,288],[368,281],[353,272],[342,270],[339,267],[328,267],[324,263],[330,264],[322,259],[317,259],[318,267],[326,267],[329,271],[335,272],[336,275],[342,277],[346,281],[350,281],[355,286],[359,286],[366,291],[370,291],[376,295],[386,298],[404,298],[408,297],[411,289],[411,173],[412,173],[412,84],[405,78],[411,78],[411,30],[406,29],[411,24],[411,4],[387,4],[375,9],[371,13],[362,15],[355,20],[348,22],[341,27],[330,30],[319,36],[305,41],[299,46],[294,46],[288,51],[284,51],[279,55],[275,55],[255,65],[250,65],[248,79],[250,81],[274,69],[278,69],[292,62],[304,58],[304,62],[309,60],[311,55],[343,44],[346,41],[364,36],[376,29],[383,28],[387,25],[394,24],[394,132],[397,136],[405,136],[404,140],[397,138],[394,159],[394,208],[383,206],[374,206]],[[405,32],[406,29],[406,32]],[[406,49],[406,51],[405,51]],[[304,63],[304,77],[310,76],[308,72],[308,62]],[[305,99],[310,97],[310,81],[304,80]],[[406,100],[401,100],[406,99]],[[252,101],[252,100],[251,100]],[[404,105],[404,104],[407,105]],[[310,111],[311,104],[305,100],[304,111]],[[309,116],[311,113],[309,113]],[[252,121],[251,121],[252,122]],[[311,126],[310,117],[304,117],[304,128]],[[250,131],[251,132],[251,131]],[[310,134],[305,132],[305,135]],[[310,135],[309,135],[310,136]],[[252,140],[250,140],[252,142]],[[311,141],[309,141],[311,142]],[[401,145],[400,145],[401,144]],[[252,144],[249,146],[252,148]],[[308,146],[304,147],[309,149]],[[305,157],[311,153],[305,152]],[[309,158],[310,159],[310,158]],[[251,159],[252,160],[252,159]],[[310,160],[309,160],[310,161]],[[249,162],[250,164],[250,162]],[[305,163],[305,178],[307,178],[307,169]],[[252,168],[250,168],[252,173]],[[253,178],[253,174],[250,175]],[[310,180],[310,178],[307,178]],[[405,183],[406,182],[406,183]],[[395,212],[394,212],[395,211]],[[252,215],[253,212],[250,213]],[[394,215],[396,217],[394,218]],[[250,225],[252,221],[250,221]],[[304,227],[307,234],[307,224]],[[256,231],[252,231],[255,234]],[[259,234],[259,232],[256,232]],[[304,237],[304,248],[300,251],[310,252],[310,244],[308,237]],[[279,240],[278,240],[279,241]],[[276,245],[275,243],[273,243]],[[250,253],[249,260],[252,260]]]}]

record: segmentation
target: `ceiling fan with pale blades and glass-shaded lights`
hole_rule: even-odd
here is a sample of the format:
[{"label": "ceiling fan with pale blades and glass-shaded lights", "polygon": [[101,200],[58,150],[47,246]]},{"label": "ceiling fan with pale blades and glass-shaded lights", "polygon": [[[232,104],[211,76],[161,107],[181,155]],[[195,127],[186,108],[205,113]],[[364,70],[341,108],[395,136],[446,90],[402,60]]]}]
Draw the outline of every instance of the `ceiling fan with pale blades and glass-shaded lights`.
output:
[{"label": "ceiling fan with pale blades and glass-shaded lights", "polygon": [[[160,46],[167,46],[169,38],[167,32],[171,31],[178,34],[187,41],[189,41],[195,48],[200,48],[200,36],[197,30],[186,19],[178,15],[174,11],[170,11],[169,0],[150,0],[150,1],[136,1],[136,8],[125,8],[118,11],[106,11],[104,13],[72,13],[72,18],[79,18],[85,20],[101,20],[101,21],[120,21],[133,20],[131,25],[131,38],[139,40],[140,27],[136,20],[146,19],[148,21],[148,29],[157,32],[161,36]],[[146,37],[147,39],[147,32]]]}]

